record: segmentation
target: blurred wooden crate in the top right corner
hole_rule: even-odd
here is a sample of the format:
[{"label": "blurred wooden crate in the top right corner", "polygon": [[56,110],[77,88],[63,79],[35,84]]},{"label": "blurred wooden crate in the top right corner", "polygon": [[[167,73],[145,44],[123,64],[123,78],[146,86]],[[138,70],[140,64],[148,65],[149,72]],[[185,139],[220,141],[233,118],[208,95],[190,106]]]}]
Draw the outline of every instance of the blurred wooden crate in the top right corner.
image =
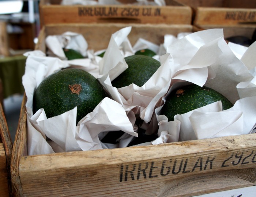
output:
[{"label": "blurred wooden crate in the top right corner", "polygon": [[256,22],[256,1],[179,0],[194,11],[193,24],[243,24]]}]

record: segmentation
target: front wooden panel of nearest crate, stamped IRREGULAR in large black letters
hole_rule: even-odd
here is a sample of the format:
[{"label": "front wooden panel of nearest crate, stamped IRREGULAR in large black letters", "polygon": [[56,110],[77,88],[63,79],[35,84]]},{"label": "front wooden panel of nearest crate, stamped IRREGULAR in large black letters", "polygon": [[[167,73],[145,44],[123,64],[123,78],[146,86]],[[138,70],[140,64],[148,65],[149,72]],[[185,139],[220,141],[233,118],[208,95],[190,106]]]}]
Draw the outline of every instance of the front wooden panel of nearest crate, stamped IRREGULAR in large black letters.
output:
[{"label": "front wooden panel of nearest crate, stamped IRREGULAR in large black letters", "polygon": [[[210,173],[210,178],[222,174],[223,170],[256,168],[255,137],[251,134],[158,146],[26,156],[20,158],[19,176],[25,196],[129,196],[131,193],[172,196],[168,191],[175,187],[175,182],[179,185],[194,178],[202,183],[207,179],[205,173]],[[244,177],[239,173],[229,174],[237,180],[233,185],[227,182],[222,189],[256,184],[255,169],[250,172]],[[185,178],[189,176],[193,177]],[[177,181],[179,178],[181,182]],[[224,183],[226,178],[224,173]],[[201,189],[195,194],[206,192],[205,188]],[[212,186],[214,189],[218,188]],[[191,195],[188,190],[190,186],[179,195]],[[211,192],[209,187],[206,190]]]}]

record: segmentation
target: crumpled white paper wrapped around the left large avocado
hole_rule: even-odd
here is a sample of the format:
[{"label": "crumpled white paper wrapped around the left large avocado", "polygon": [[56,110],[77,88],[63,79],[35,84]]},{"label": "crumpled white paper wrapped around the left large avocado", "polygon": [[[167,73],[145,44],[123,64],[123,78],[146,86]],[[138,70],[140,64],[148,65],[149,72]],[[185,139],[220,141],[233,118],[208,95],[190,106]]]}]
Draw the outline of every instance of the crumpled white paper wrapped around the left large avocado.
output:
[{"label": "crumpled white paper wrapped around the left large avocado", "polygon": [[[76,107],[56,117],[47,118],[43,109],[33,114],[33,93],[41,81],[70,66],[68,61],[47,57],[41,51],[27,54],[23,86],[27,95],[27,144],[28,154],[47,154],[62,151],[102,149],[98,134],[106,131],[124,131],[137,137],[131,122],[135,117],[125,112],[116,101],[105,98],[95,109],[81,119],[76,126]],[[47,138],[46,138],[47,136]],[[50,140],[49,140],[50,139]],[[120,139],[120,145],[127,144],[127,137]]]}]

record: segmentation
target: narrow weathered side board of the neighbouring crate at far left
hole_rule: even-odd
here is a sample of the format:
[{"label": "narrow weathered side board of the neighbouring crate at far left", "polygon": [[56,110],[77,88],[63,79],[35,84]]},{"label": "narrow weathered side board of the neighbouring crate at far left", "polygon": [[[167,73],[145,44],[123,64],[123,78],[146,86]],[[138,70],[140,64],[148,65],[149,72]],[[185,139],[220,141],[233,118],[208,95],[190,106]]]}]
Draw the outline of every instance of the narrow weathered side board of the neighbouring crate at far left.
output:
[{"label": "narrow weathered side board of the neighbouring crate at far left", "polygon": [[4,150],[5,150],[5,158],[6,158],[6,169],[7,169],[7,177],[8,177],[8,190],[9,194],[12,194],[11,187],[11,156],[12,156],[12,140],[11,135],[8,130],[7,122],[5,119],[3,107],[0,103],[0,138],[3,142]]}]

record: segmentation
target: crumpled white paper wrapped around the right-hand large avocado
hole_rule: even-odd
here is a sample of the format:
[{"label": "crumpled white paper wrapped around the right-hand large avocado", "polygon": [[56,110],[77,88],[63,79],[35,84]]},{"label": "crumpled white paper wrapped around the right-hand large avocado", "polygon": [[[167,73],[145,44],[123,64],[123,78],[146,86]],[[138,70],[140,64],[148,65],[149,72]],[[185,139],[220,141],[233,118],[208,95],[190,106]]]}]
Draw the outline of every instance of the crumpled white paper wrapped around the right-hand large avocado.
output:
[{"label": "crumpled white paper wrapped around the right-hand large avocado", "polygon": [[[209,43],[203,45],[203,39],[210,32],[215,36],[221,36],[216,40],[217,48],[212,48],[210,51],[204,50],[202,54],[199,54],[202,47],[205,48],[209,45]],[[234,106],[222,111],[221,102],[216,102],[185,114],[178,114],[174,116],[174,121],[170,122],[167,121],[164,115],[160,115],[161,106],[155,112],[159,124],[158,135],[162,134],[162,137],[153,144],[162,143],[162,139],[165,142],[173,141],[175,137],[179,141],[186,141],[255,132],[253,129],[256,124],[256,79],[253,62],[255,62],[256,43],[253,43],[249,48],[234,43],[227,44],[221,34],[221,29],[196,32],[169,46],[167,53],[172,54],[174,70],[169,92],[184,85],[182,80],[185,80],[200,86],[205,85],[213,88],[226,96]],[[184,45],[187,47],[182,48],[182,51],[186,54],[187,51],[195,50],[196,53],[192,58],[180,53],[179,46]],[[217,50],[221,50],[221,53],[216,62],[208,69],[204,69],[204,72],[201,70],[200,74],[198,69],[190,69],[193,65],[201,65],[202,68],[207,68],[207,64],[203,62],[212,58],[211,52],[215,53]],[[181,59],[182,61],[179,61]],[[211,73],[215,76],[206,80]],[[165,97],[162,104],[164,101]],[[168,137],[171,137],[171,139],[169,140]]]}]

